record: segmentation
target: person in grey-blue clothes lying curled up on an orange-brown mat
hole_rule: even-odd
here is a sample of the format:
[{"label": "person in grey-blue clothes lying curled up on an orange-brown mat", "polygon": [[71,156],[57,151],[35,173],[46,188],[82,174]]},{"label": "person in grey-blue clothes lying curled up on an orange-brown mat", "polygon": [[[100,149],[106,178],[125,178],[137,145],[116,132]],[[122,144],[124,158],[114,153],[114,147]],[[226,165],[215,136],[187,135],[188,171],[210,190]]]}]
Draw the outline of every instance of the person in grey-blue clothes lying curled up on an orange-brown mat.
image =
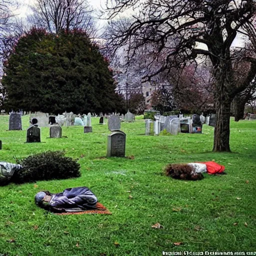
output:
[{"label": "person in grey-blue clothes lying curled up on an orange-brown mat", "polygon": [[60,193],[40,191],[34,197],[35,203],[53,212],[77,212],[95,209],[97,197],[86,186],[66,188]]}]

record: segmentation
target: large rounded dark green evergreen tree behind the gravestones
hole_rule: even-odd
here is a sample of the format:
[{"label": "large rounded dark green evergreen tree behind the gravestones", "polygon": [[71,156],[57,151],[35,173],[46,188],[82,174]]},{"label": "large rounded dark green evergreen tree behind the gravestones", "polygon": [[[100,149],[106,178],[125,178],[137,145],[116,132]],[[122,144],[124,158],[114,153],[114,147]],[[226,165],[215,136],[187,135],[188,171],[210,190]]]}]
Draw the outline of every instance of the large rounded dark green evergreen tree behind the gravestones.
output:
[{"label": "large rounded dark green evergreen tree behind the gravestones", "polygon": [[31,29],[5,62],[6,110],[108,112],[119,105],[108,62],[82,30]]}]

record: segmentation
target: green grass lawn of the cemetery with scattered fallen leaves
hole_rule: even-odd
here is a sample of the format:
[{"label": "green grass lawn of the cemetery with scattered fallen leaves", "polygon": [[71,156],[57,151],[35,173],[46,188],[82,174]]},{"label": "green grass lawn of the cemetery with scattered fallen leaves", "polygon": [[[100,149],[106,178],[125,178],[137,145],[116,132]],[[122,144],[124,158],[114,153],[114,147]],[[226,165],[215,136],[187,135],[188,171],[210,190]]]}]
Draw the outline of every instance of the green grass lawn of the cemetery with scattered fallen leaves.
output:
[{"label": "green grass lawn of the cemetery with scattered fallen leaves", "polygon": [[[231,119],[232,153],[213,153],[213,127],[203,125],[203,134],[145,136],[139,116],[121,123],[126,158],[105,157],[110,132],[98,122],[92,118],[92,133],[63,127],[66,137],[59,139],[47,138],[49,128],[41,128],[43,143],[24,143],[28,116],[22,116],[22,131],[6,131],[8,116],[0,116],[0,161],[65,150],[81,165],[79,178],[0,187],[0,255],[256,251],[256,121]],[[226,175],[204,174],[198,181],[163,175],[168,163],[212,159],[225,165]],[[112,215],[60,216],[34,203],[40,190],[56,193],[75,186],[89,187]],[[163,228],[151,227],[157,222]]]}]

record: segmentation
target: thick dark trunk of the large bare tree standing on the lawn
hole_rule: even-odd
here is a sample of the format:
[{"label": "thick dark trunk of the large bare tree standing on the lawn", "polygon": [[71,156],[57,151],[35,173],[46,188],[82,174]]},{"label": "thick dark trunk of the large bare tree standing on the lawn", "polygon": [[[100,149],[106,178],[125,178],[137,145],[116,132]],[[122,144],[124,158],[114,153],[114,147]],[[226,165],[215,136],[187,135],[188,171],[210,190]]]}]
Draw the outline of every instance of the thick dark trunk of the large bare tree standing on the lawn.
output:
[{"label": "thick dark trunk of the large bare tree standing on the lawn", "polygon": [[219,94],[215,95],[216,107],[216,124],[214,128],[214,152],[230,152],[229,147],[229,120],[231,98],[227,92],[219,90]]}]

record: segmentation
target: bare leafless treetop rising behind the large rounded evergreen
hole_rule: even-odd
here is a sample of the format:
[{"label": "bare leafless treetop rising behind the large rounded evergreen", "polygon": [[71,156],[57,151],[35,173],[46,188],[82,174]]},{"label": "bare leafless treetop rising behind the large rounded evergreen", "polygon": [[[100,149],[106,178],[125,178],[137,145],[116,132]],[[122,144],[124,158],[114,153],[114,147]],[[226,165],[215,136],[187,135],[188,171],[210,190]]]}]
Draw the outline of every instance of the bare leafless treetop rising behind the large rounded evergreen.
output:
[{"label": "bare leafless treetop rising behind the large rounded evergreen", "polygon": [[95,33],[93,10],[87,0],[35,0],[30,7],[33,11],[28,17],[30,23],[49,32],[81,28],[89,35]]}]

